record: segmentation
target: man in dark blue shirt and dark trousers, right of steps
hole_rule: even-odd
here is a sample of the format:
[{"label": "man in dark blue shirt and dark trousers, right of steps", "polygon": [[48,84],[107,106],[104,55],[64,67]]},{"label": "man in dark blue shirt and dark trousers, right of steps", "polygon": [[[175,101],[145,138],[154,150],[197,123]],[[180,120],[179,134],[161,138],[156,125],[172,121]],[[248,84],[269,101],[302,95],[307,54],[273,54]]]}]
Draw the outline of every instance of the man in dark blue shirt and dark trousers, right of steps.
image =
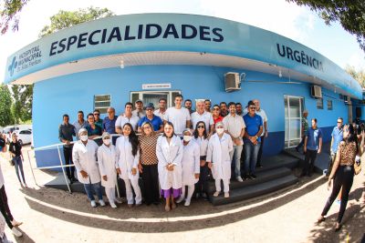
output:
[{"label": "man in dark blue shirt and dark trousers, right of steps", "polygon": [[[301,173],[301,177],[312,176],[314,163],[316,161],[317,154],[320,154],[322,149],[322,131],[317,127],[317,119],[312,118],[312,127],[308,128],[306,139],[304,141],[304,153],[306,157],[304,159],[304,167]],[[310,160],[310,162],[309,162]]]}]

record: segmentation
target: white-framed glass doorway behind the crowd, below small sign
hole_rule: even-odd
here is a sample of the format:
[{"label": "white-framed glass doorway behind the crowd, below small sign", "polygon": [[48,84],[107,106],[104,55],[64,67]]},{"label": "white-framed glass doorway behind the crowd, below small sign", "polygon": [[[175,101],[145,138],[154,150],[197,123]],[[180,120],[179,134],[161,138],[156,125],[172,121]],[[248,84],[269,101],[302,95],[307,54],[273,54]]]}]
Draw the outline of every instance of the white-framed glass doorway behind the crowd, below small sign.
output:
[{"label": "white-framed glass doorway behind the crowd, below small sign", "polygon": [[137,99],[141,99],[143,104],[152,103],[157,109],[159,107],[159,99],[165,98],[167,100],[167,106],[174,106],[173,100],[175,96],[181,94],[181,91],[140,91],[140,92],[130,92],[130,102],[134,104]]}]

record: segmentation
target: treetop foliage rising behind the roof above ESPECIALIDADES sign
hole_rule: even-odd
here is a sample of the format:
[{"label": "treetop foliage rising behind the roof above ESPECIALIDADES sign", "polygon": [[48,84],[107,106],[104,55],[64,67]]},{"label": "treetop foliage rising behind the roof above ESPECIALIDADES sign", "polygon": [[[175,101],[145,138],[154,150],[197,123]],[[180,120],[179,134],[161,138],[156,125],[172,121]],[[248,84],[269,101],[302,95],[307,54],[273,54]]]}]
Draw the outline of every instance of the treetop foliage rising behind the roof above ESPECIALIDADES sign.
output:
[{"label": "treetop foliage rising behind the roof above ESPECIALIDADES sign", "polygon": [[77,11],[60,10],[56,15],[51,16],[51,24],[46,25],[39,34],[43,37],[58,30],[78,25],[91,20],[114,15],[108,8],[99,8],[90,6],[86,9],[78,9]]}]

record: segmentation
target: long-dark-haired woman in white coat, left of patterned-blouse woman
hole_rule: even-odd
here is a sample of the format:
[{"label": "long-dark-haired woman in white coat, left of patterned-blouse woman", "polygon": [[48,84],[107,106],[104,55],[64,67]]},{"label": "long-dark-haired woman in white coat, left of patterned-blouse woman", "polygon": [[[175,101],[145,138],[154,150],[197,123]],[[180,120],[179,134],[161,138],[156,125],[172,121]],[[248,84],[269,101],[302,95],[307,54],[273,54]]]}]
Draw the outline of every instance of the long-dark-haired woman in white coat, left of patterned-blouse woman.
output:
[{"label": "long-dark-haired woman in white coat, left of patterned-blouse woman", "polygon": [[138,164],[140,162],[139,142],[130,123],[123,125],[121,133],[122,136],[118,137],[115,144],[117,172],[120,178],[124,180],[128,207],[131,208],[134,203],[132,187],[136,194],[136,206],[140,206],[142,203],[141,187],[138,184],[140,178],[138,171]]}]

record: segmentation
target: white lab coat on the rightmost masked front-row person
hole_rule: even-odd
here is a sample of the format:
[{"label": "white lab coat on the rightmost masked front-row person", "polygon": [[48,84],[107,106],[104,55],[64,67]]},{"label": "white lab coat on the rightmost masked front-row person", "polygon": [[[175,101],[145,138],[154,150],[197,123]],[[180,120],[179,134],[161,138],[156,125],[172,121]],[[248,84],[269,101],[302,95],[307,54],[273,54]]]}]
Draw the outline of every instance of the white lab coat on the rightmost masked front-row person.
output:
[{"label": "white lab coat on the rightmost masked front-row person", "polygon": [[206,161],[212,162],[212,175],[214,179],[231,178],[231,157],[229,152],[234,149],[232,138],[224,133],[219,139],[218,134],[214,134],[209,139]]}]

